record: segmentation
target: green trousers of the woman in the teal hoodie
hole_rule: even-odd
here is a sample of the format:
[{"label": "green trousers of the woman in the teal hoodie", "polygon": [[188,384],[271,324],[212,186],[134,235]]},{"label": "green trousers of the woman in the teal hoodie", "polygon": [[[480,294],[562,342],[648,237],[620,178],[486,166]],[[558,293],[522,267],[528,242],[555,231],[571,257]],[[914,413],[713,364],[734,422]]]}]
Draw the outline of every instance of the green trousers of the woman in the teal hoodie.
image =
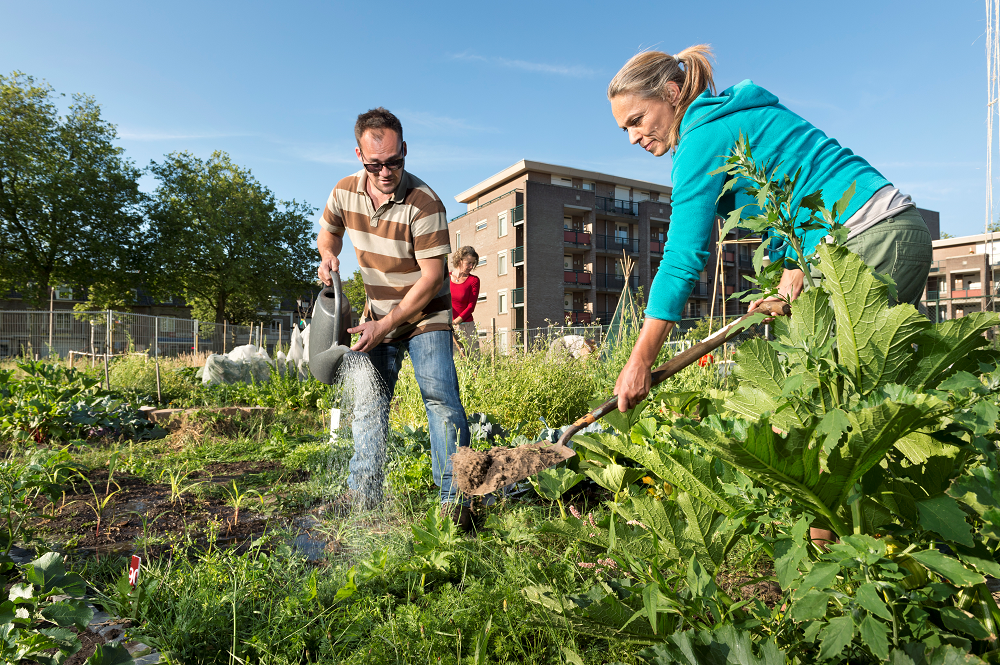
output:
[{"label": "green trousers of the woman in the teal hoodie", "polygon": [[895,304],[920,304],[931,269],[931,234],[916,208],[884,219],[845,243],[875,272],[896,282]]}]

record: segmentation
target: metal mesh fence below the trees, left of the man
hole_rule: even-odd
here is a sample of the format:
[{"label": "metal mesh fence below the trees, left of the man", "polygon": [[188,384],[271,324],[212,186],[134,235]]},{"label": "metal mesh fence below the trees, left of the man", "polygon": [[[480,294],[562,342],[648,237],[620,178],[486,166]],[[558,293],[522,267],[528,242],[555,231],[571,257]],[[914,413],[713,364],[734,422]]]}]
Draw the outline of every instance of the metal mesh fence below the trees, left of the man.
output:
[{"label": "metal mesh fence below the trees, left of the man", "polygon": [[130,312],[0,311],[0,358],[11,356],[66,358],[72,351],[86,355],[149,353],[226,353],[251,342],[273,352],[287,345],[291,331],[257,324],[234,326],[192,319]]}]

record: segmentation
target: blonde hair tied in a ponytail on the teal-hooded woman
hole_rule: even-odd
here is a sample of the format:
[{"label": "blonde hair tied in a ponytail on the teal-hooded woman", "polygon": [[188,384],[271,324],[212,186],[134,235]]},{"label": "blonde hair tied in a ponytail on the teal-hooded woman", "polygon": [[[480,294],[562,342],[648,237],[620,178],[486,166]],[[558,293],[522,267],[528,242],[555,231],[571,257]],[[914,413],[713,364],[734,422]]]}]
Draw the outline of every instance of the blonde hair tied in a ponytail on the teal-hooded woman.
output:
[{"label": "blonde hair tied in a ponytail on the teal-hooded woman", "polygon": [[[711,90],[715,94],[712,49],[708,44],[689,46],[677,55],[644,51],[632,56],[608,84],[608,99],[619,95],[638,95],[641,99],[667,99],[668,83],[676,83],[680,95],[674,102],[674,122],[667,133],[667,149],[677,147],[681,120],[698,95]],[[683,66],[683,68],[682,68]]]}]

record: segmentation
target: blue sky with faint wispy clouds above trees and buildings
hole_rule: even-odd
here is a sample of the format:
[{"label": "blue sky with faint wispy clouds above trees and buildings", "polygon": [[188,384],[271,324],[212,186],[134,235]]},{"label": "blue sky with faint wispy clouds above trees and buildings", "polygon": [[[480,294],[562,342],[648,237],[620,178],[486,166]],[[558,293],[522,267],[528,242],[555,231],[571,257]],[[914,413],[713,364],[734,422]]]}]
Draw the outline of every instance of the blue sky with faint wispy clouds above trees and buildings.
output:
[{"label": "blue sky with faint wispy clouds above trees and buildings", "polygon": [[669,184],[604,91],[641,49],[709,43],[720,89],[770,89],[965,235],[985,219],[984,5],[2,0],[0,72],[96,97],[140,166],[224,150],[317,208],[358,168],[357,114],[383,105],[453,217],[520,159]]}]

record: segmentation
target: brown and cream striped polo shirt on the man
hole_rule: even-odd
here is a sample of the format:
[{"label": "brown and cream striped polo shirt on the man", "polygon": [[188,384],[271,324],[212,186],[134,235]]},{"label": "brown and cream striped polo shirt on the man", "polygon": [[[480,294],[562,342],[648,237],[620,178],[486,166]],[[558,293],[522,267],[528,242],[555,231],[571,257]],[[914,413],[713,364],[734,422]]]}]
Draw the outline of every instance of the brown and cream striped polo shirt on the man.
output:
[{"label": "brown and cream striped polo shirt on the man", "polygon": [[[379,320],[400,303],[420,279],[417,259],[451,253],[444,204],[422,180],[403,170],[399,187],[375,210],[365,191],[365,170],[337,183],[320,224],[334,235],[350,234],[368,296],[368,312]],[[445,266],[447,275],[447,266]],[[451,330],[451,289],[441,289],[420,312],[386,335],[385,341],[409,339],[431,330]]]}]

